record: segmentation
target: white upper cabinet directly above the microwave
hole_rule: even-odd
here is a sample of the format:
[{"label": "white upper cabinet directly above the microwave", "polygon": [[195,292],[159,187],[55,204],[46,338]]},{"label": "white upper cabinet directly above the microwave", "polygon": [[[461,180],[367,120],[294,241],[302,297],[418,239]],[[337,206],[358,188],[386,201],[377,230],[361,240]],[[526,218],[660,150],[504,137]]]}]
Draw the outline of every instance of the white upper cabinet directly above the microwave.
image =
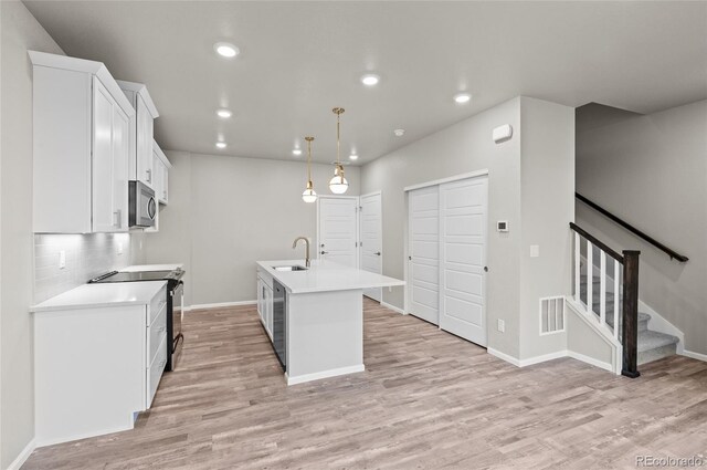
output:
[{"label": "white upper cabinet directly above the microwave", "polygon": [[155,103],[141,83],[117,81],[128,98],[136,115],[130,121],[130,180],[143,181],[155,188],[155,169],[152,168],[152,142],[155,118],[159,116]]}]

